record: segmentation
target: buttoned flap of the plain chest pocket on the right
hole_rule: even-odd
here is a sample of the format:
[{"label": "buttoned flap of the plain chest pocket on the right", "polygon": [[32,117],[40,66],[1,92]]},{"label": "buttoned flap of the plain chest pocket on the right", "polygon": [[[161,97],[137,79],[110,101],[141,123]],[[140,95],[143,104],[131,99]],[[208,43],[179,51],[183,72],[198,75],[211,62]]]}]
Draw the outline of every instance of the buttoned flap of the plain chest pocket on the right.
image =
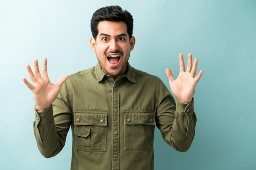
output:
[{"label": "buttoned flap of the plain chest pocket on the right", "polygon": [[154,111],[124,111],[125,124],[155,125]]}]

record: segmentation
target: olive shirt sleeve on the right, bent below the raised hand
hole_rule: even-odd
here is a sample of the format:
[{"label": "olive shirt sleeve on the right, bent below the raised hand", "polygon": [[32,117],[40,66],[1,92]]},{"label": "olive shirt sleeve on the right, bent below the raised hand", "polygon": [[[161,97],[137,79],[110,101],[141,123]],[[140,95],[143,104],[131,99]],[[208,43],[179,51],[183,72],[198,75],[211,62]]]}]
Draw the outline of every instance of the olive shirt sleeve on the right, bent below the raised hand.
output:
[{"label": "olive shirt sleeve on the right, bent below the raised hand", "polygon": [[175,150],[186,152],[195,136],[196,115],[194,99],[184,104],[176,102],[167,87],[160,81],[156,125],[164,141]]}]

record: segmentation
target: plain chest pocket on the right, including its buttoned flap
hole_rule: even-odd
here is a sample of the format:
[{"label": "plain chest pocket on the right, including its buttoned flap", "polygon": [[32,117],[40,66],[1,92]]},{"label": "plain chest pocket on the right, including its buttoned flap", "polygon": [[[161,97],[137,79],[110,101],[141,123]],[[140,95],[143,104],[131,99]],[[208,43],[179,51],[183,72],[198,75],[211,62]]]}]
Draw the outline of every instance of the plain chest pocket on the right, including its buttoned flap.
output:
[{"label": "plain chest pocket on the right, including its buttoned flap", "polygon": [[155,131],[154,111],[124,111],[125,150],[153,149]]}]

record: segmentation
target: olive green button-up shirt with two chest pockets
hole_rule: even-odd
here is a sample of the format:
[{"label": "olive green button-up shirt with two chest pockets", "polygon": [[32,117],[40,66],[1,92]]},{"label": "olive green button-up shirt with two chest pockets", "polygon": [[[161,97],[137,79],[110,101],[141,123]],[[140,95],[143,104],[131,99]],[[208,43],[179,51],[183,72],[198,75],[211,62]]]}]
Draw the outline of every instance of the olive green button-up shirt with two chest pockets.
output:
[{"label": "olive green button-up shirt with two chest pockets", "polygon": [[36,111],[34,132],[41,154],[53,157],[71,126],[71,170],[153,170],[155,125],[167,144],[185,152],[195,123],[193,100],[175,104],[158,77],[128,63],[114,81],[97,63],[70,75],[52,106]]}]

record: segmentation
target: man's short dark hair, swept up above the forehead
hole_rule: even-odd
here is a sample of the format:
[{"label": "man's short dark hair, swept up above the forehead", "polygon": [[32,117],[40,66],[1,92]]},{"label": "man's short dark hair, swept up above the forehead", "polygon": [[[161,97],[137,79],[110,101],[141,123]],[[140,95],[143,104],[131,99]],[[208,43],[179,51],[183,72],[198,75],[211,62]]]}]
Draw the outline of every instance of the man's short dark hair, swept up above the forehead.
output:
[{"label": "man's short dark hair, swept up above the forehead", "polygon": [[132,29],[133,29],[132,15],[128,11],[123,10],[121,7],[108,6],[108,7],[100,8],[94,12],[91,20],[91,31],[94,39],[96,39],[99,33],[98,24],[101,21],[125,22],[127,25],[127,33],[129,35],[129,38],[132,37]]}]

